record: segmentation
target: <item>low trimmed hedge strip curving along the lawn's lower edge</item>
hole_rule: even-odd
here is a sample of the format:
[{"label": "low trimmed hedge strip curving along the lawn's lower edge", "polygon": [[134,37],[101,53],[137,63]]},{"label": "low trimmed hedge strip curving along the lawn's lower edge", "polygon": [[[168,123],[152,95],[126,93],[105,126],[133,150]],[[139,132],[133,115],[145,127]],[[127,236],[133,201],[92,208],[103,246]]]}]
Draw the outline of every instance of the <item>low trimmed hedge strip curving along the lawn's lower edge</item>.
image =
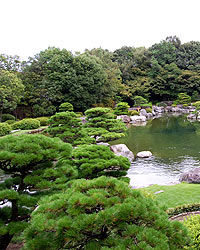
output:
[{"label": "low trimmed hedge strip curving along the lawn's lower edge", "polygon": [[177,206],[175,208],[169,208],[166,212],[168,213],[169,217],[172,217],[181,213],[195,212],[195,211],[200,211],[200,203],[186,204],[182,206]]}]

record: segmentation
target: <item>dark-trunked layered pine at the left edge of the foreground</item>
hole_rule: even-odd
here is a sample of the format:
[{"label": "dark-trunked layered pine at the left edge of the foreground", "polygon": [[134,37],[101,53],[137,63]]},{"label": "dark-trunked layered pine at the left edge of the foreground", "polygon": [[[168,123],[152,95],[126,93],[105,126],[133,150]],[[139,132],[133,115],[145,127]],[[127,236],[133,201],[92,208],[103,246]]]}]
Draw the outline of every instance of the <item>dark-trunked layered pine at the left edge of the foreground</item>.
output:
[{"label": "dark-trunked layered pine at the left edge of the foreground", "polygon": [[[69,158],[71,150],[70,144],[44,135],[6,136],[0,139],[0,170],[5,174],[0,183],[2,250],[7,248],[15,234],[27,226],[40,196],[51,191],[51,180],[44,179],[45,171],[53,168],[54,161]],[[63,175],[64,172],[67,175],[67,170],[62,171]]]}]

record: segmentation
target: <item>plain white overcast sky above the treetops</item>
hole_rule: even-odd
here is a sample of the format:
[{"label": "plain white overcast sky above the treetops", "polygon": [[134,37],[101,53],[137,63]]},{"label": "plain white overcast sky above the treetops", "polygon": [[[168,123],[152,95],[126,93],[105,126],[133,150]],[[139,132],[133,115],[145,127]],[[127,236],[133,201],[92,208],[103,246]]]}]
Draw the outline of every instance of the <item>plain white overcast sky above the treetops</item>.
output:
[{"label": "plain white overcast sky above the treetops", "polygon": [[167,36],[200,41],[199,0],[0,0],[0,54],[26,60],[49,46],[73,53],[146,48]]}]

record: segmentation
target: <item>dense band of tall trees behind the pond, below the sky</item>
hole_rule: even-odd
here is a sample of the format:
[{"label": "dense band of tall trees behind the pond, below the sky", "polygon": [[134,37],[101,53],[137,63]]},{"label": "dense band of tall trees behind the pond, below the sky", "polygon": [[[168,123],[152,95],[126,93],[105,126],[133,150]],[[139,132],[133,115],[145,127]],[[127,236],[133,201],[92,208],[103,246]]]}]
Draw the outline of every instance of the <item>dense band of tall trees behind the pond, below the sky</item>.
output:
[{"label": "dense band of tall trees behind the pond, below the sky", "polygon": [[135,96],[156,103],[200,93],[200,42],[182,44],[176,36],[150,48],[101,48],[75,53],[55,47],[28,61],[0,55],[0,114],[17,118],[49,116],[63,102],[75,111],[134,104]]}]

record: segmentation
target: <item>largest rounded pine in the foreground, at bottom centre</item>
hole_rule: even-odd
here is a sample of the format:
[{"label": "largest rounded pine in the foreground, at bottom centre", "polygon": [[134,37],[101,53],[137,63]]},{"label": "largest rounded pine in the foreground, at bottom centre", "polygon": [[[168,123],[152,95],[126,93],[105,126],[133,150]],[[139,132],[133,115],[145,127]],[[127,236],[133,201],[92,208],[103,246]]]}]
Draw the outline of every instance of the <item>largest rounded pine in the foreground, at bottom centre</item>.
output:
[{"label": "largest rounded pine in the foreground, at bottom centre", "polygon": [[169,221],[155,201],[116,178],[76,180],[44,197],[25,232],[26,250],[180,250],[180,222]]}]

